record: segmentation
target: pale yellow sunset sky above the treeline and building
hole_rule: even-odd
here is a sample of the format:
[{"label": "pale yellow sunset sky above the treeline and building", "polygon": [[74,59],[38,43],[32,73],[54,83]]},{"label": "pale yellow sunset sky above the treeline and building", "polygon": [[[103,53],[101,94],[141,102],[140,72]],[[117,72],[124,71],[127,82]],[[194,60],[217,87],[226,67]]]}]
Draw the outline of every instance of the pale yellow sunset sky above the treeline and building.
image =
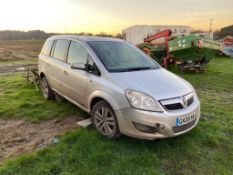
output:
[{"label": "pale yellow sunset sky above the treeline and building", "polygon": [[120,33],[135,24],[233,24],[233,0],[0,0],[0,30]]}]

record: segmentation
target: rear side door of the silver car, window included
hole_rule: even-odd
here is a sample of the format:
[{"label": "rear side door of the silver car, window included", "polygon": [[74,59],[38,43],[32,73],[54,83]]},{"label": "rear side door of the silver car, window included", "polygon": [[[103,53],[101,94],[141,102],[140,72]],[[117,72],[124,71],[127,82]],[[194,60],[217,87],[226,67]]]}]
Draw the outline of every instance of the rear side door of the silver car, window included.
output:
[{"label": "rear side door of the silver car, window included", "polygon": [[61,83],[64,74],[64,66],[67,57],[68,47],[70,41],[64,39],[58,39],[52,48],[50,61],[47,63],[47,77],[50,86],[55,91],[61,93]]}]

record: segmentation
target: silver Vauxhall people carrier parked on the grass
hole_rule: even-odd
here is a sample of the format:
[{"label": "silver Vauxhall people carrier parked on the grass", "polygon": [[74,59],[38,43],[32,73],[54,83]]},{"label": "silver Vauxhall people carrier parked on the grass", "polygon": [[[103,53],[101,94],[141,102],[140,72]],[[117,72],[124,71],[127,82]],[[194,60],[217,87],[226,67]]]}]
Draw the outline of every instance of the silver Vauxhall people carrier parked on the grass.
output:
[{"label": "silver Vauxhall people carrier parked on the grass", "polygon": [[87,111],[108,138],[173,137],[200,117],[190,83],[120,39],[52,36],[39,55],[39,74],[46,99],[56,94]]}]

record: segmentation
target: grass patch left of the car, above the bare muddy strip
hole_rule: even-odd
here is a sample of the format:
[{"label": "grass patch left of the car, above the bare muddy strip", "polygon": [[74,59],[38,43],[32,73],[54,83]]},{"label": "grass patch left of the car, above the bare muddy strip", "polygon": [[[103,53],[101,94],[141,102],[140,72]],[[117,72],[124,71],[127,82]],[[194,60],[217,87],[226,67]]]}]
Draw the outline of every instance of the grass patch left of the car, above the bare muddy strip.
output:
[{"label": "grass patch left of the car, above the bare muddy strip", "polygon": [[71,103],[46,101],[22,76],[0,76],[0,118],[25,118],[33,122],[87,114]]}]

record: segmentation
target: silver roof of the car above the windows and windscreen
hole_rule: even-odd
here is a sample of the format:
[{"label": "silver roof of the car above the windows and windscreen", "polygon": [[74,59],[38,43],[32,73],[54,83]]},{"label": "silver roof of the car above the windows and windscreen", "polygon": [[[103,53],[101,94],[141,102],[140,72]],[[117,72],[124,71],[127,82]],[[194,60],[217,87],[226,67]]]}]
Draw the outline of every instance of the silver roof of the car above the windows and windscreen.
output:
[{"label": "silver roof of the car above the windows and windscreen", "polygon": [[111,42],[124,42],[122,39],[112,38],[112,37],[98,37],[98,36],[79,36],[79,35],[54,35],[48,38],[53,39],[73,39],[73,40],[83,40],[88,41],[111,41]]}]

